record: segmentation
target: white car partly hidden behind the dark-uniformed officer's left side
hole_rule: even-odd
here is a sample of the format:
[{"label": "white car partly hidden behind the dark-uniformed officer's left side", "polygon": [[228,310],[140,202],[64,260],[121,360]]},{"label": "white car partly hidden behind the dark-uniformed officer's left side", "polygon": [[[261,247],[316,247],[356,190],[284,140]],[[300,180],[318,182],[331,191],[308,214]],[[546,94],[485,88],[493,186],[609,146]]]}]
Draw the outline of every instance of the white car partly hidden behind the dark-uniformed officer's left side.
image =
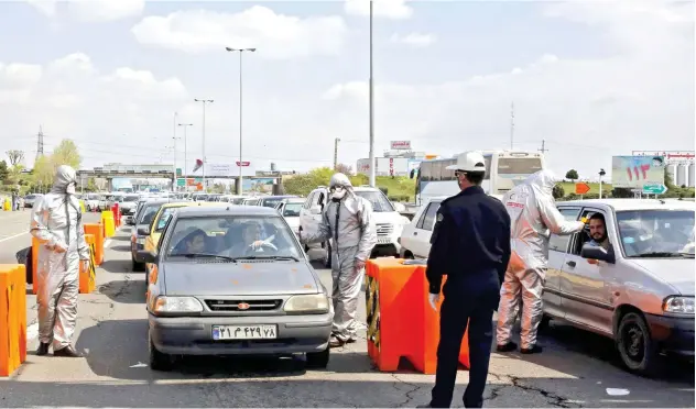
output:
[{"label": "white car partly hidden behind the dark-uniformed officer's left side", "polygon": [[431,235],[435,226],[437,209],[447,196],[431,198],[423,204],[401,232],[401,258],[427,258],[431,252]]}]

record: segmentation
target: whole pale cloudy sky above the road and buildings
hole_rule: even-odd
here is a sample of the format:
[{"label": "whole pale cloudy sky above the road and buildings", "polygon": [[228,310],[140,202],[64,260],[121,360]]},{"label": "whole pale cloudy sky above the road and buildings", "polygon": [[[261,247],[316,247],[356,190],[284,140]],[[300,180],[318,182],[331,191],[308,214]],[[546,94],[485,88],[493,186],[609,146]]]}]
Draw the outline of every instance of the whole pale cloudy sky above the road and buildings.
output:
[{"label": "whole pale cloudy sky above the road and buildings", "polygon": [[[0,156],[63,139],[83,167],[369,155],[369,2],[0,1]],[[592,178],[612,155],[693,151],[693,1],[376,0],[376,155],[537,152]],[[514,130],[511,132],[511,104]],[[176,112],[176,117],[175,117]],[[192,126],[175,126],[192,123]],[[186,129],[186,148],[184,148]],[[174,135],[180,140],[174,140]],[[511,137],[512,136],[512,137]],[[512,140],[512,141],[511,141]],[[174,148],[176,146],[176,148]]]}]

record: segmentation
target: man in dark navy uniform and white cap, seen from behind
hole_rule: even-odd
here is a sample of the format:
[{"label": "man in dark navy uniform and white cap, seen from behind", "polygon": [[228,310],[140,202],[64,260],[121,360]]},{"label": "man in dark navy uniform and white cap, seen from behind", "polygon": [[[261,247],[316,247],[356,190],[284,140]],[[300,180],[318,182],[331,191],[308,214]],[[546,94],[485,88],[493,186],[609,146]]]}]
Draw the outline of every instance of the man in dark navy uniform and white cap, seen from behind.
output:
[{"label": "man in dark navy uniform and white cap, seen from behind", "polygon": [[426,408],[448,408],[457,377],[459,350],[469,328],[469,385],[464,406],[480,408],[493,342],[493,311],[500,299],[500,283],[510,259],[510,217],[500,200],[481,188],[486,161],[480,152],[465,152],[455,170],[461,191],[444,200],[431,239],[426,276],[428,301],[437,310],[442,278],[437,373]]}]

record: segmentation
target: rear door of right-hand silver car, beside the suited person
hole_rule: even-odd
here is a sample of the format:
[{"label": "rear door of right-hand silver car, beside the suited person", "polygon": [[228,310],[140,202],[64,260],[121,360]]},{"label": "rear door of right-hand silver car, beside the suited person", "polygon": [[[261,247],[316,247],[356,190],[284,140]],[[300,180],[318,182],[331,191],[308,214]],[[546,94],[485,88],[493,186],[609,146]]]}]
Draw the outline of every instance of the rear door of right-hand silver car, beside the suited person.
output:
[{"label": "rear door of right-hand silver car, beside the suited person", "polygon": [[[580,207],[559,206],[558,211],[566,220],[578,220]],[[553,317],[563,318],[565,312],[561,307],[561,272],[568,246],[570,235],[552,234],[548,240],[548,268],[546,269],[546,283],[544,285],[544,311]]]}]

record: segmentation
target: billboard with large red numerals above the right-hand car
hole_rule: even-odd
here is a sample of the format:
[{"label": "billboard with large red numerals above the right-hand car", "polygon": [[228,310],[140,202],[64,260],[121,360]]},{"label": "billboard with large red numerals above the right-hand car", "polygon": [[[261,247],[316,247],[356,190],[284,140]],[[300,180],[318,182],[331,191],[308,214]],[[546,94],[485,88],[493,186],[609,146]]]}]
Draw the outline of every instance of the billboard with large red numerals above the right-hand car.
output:
[{"label": "billboard with large red numerals above the right-hand car", "polygon": [[664,156],[613,156],[611,185],[630,189],[642,189],[643,185],[662,185],[664,169]]}]

